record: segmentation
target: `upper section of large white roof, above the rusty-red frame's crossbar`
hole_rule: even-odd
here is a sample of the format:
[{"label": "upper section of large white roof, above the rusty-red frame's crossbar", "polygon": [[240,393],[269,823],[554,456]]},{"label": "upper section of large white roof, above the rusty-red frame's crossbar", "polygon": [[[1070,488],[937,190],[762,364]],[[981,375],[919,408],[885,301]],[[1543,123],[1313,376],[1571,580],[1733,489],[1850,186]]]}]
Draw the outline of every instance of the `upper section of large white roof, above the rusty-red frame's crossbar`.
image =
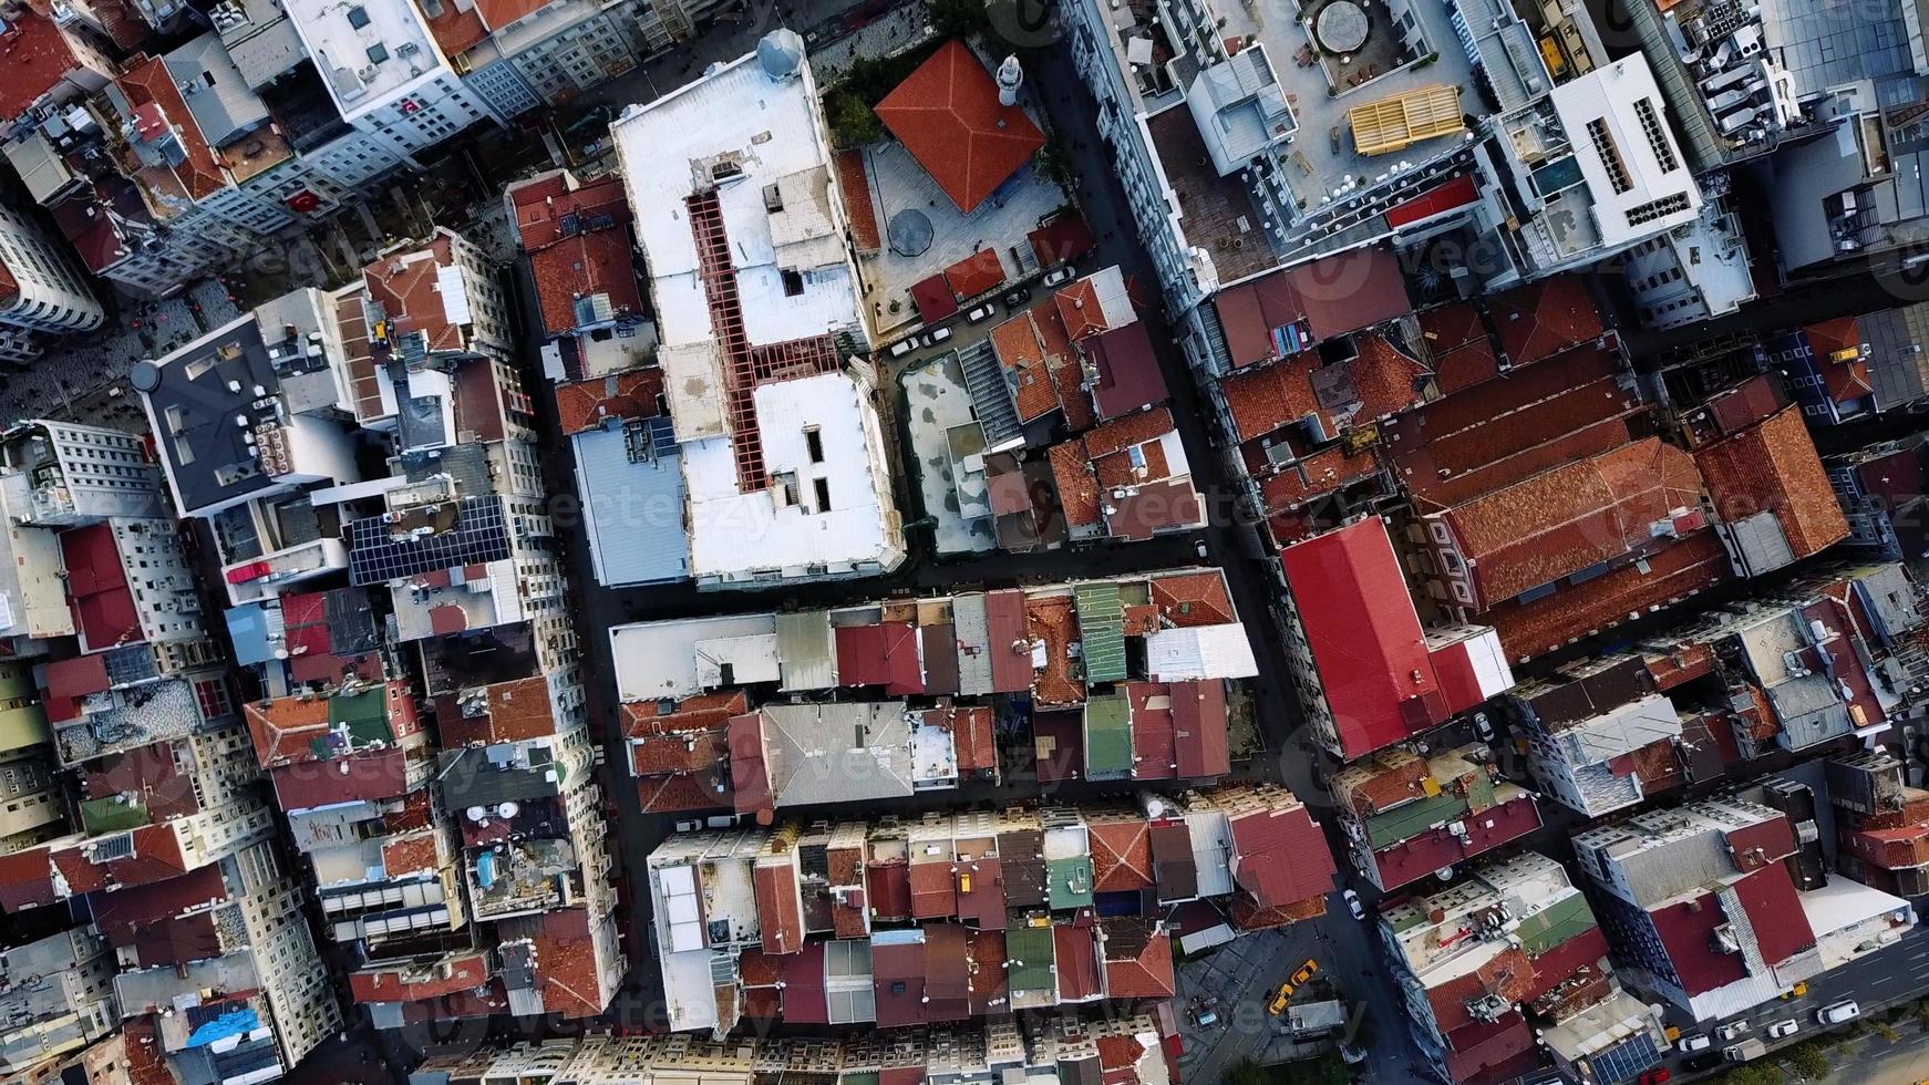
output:
[{"label": "upper section of large white roof, above the rusty-red frame's crossbar", "polygon": [[[718,173],[712,164],[725,156],[735,173],[716,181],[716,191],[750,341],[783,343],[862,328],[843,245],[810,243],[841,233],[841,210],[828,181],[829,145],[814,96],[808,66],[801,77],[777,81],[764,73],[756,54],[747,54],[664,98],[633,106],[610,127],[666,347],[712,337],[685,200],[698,179],[710,185],[708,177]],[[772,185],[783,193],[777,212],[766,204]],[[785,241],[781,254],[777,237]],[[785,289],[787,270],[801,274],[801,283],[791,283],[795,293]]]}]

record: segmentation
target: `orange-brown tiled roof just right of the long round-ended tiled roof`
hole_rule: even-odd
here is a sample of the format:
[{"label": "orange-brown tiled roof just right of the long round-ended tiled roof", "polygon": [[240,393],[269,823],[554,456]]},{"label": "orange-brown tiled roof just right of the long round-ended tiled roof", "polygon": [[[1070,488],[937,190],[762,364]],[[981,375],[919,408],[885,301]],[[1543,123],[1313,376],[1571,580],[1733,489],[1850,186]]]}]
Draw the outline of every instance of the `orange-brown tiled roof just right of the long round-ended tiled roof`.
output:
[{"label": "orange-brown tiled roof just right of the long round-ended tiled roof", "polygon": [[1703,445],[1694,459],[1707,478],[1719,520],[1773,513],[1798,559],[1848,538],[1842,505],[1798,407],[1784,407],[1759,426]]}]

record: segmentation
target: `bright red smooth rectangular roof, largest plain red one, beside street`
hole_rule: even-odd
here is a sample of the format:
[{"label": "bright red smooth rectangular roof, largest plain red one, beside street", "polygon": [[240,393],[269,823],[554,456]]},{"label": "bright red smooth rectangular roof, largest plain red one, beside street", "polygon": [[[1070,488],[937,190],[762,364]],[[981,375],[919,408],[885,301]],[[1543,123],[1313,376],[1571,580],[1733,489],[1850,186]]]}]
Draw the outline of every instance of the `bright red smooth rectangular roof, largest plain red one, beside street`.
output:
[{"label": "bright red smooth rectangular roof, largest plain red one, beside street", "polygon": [[1292,543],[1279,559],[1346,759],[1447,719],[1383,520]]}]

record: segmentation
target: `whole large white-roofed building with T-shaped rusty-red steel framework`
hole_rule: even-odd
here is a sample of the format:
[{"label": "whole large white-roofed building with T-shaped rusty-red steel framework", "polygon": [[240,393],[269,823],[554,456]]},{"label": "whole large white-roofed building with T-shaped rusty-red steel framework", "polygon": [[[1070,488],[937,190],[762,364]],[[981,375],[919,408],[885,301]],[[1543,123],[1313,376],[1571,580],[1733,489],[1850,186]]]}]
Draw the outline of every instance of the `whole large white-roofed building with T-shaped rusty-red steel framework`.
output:
[{"label": "whole large white-roofed building with T-shaped rusty-red steel framework", "polygon": [[[650,268],[691,578],[733,588],[895,569],[905,540],[870,333],[802,40],[777,31],[631,110],[611,139]],[[588,486],[584,501],[596,503]]]}]

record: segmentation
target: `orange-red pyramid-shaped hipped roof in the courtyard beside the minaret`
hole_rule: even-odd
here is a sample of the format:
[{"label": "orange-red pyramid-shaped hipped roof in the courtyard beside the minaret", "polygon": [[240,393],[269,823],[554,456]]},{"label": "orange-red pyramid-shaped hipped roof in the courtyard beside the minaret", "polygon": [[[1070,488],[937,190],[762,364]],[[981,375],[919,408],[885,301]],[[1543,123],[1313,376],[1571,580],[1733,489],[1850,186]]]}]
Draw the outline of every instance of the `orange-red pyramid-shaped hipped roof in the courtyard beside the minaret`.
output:
[{"label": "orange-red pyramid-shaped hipped roof in the courtyard beside the minaret", "polygon": [[939,46],[876,112],[963,212],[1046,145],[1024,110],[999,104],[992,73],[961,40]]}]

